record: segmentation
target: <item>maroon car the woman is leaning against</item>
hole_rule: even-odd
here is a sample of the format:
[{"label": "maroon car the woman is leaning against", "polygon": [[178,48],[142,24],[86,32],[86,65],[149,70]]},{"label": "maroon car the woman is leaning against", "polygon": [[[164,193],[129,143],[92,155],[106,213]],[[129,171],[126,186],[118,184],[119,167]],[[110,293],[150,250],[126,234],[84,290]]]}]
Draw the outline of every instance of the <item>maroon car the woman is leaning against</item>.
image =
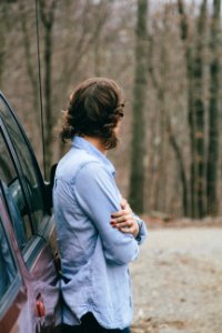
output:
[{"label": "maroon car the woman is leaning against", "polygon": [[30,142],[0,92],[0,332],[59,332],[59,261],[51,209]]}]

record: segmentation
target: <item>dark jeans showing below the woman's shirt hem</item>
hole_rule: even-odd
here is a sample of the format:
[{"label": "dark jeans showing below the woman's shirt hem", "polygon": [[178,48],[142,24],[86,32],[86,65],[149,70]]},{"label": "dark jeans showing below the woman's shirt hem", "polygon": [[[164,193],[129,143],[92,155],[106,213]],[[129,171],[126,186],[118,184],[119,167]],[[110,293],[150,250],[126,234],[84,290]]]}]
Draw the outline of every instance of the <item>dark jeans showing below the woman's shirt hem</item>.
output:
[{"label": "dark jeans showing below the woman's shirt hem", "polygon": [[100,326],[92,313],[87,313],[78,326],[63,325],[62,333],[130,333],[130,329],[108,330]]}]

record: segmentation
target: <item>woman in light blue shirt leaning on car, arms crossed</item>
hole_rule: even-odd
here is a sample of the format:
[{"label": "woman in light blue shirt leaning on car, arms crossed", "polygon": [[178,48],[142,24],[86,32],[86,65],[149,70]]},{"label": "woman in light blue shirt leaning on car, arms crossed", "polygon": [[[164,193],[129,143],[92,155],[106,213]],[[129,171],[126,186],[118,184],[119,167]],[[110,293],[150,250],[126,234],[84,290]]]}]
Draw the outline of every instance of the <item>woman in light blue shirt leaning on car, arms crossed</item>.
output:
[{"label": "woman in light blue shirt leaning on car, arms crossed", "polygon": [[53,189],[65,332],[130,332],[128,264],[147,230],[121,198],[105,157],[118,143],[123,107],[114,81],[92,78],[74,90],[65,111],[61,138],[71,149]]}]

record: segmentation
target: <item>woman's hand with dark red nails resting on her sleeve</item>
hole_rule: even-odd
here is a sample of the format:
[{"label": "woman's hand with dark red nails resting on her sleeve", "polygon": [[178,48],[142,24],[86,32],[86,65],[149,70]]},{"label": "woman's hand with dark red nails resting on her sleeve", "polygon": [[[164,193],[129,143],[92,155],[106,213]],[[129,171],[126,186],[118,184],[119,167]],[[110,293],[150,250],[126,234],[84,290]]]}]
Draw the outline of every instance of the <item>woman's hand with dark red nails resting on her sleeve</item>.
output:
[{"label": "woman's hand with dark red nails resting on her sleeve", "polygon": [[137,239],[139,233],[139,224],[133,218],[132,210],[128,201],[123,199],[120,205],[122,210],[112,213],[110,224],[124,233],[131,233]]}]

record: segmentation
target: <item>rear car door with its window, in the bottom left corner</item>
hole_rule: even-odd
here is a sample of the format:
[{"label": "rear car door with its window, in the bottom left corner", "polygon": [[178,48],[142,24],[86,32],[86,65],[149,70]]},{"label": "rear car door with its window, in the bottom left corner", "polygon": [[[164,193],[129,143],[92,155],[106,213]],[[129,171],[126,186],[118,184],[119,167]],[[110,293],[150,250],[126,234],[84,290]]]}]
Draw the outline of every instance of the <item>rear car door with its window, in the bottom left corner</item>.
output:
[{"label": "rear car door with its window, in the bottom left corner", "polygon": [[[22,258],[14,239],[0,185],[0,332],[30,332],[31,313],[22,280]],[[29,329],[30,327],[30,329]]]}]

